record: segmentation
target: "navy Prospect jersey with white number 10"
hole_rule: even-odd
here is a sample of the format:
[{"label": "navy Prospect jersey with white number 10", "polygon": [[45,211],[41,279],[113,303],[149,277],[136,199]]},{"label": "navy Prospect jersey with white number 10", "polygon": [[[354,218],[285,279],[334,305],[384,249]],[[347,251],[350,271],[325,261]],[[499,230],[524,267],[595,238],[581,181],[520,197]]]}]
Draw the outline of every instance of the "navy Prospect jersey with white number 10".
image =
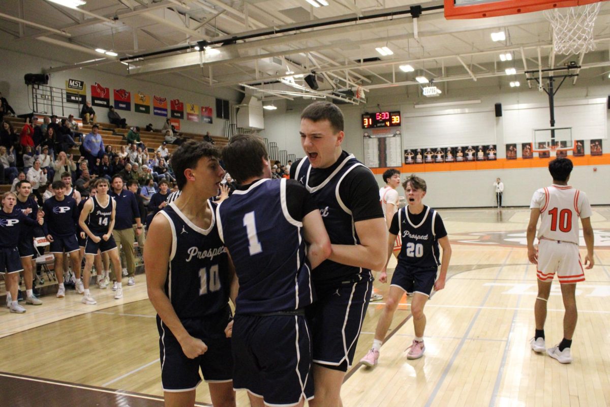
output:
[{"label": "navy Prospect jersey with white number 10", "polygon": [[171,253],[165,294],[181,320],[200,318],[226,310],[229,306],[228,256],[218,237],[215,207],[209,228],[201,229],[175,203],[164,207],[171,226]]}]

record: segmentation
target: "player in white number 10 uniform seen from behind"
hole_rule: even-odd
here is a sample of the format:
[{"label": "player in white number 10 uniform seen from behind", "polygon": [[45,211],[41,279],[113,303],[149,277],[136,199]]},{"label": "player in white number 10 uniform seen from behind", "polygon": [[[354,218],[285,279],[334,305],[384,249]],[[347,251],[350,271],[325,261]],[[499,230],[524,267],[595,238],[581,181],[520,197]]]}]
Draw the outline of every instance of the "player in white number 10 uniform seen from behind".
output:
[{"label": "player in white number 10 uniform seen from behind", "polygon": [[[583,225],[584,243],[587,247],[587,255],[584,258],[585,268],[589,269],[594,265],[591,206],[584,192],[567,185],[572,168],[572,161],[567,158],[557,158],[548,163],[548,170],[553,176],[553,185],[534,192],[529,205],[531,214],[527,231],[528,259],[537,265],[538,277],[538,295],[534,304],[536,334],[530,341],[531,348],[536,352],[547,351],[551,358],[561,363],[572,362],[572,336],[578,319],[576,283],[584,281],[583,264],[578,253],[580,241],[578,218]],[[534,236],[536,236],[538,218],[540,218],[540,228],[536,249]],[[564,338],[558,345],[546,349],[544,323],[547,319],[547,300],[555,274],[561,284],[565,307]]]}]

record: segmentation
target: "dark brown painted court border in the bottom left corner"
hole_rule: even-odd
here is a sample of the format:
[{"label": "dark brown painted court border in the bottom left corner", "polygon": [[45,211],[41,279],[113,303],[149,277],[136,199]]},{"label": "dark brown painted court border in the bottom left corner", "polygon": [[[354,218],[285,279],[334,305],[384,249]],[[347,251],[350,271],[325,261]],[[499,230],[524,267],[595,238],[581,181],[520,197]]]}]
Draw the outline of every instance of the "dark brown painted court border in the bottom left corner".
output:
[{"label": "dark brown painted court border in the bottom left corner", "polygon": [[[2,400],[12,406],[163,407],[163,397],[0,372]],[[3,402],[0,404],[4,405]],[[212,407],[197,402],[198,407]]]}]

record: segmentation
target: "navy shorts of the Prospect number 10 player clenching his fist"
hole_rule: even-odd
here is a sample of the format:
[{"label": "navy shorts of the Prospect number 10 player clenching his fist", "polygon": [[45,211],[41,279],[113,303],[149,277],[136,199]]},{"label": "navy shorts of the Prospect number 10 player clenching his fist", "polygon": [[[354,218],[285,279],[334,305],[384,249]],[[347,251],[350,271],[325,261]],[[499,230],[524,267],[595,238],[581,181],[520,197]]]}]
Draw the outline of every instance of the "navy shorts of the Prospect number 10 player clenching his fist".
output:
[{"label": "navy shorts of the Prospect number 10 player clenching his fist", "polygon": [[231,339],[224,335],[229,323],[230,309],[198,319],[181,320],[187,332],[207,345],[207,351],[195,359],[189,359],[180,343],[157,315],[161,383],[165,392],[194,390],[201,383],[201,375],[207,383],[225,383],[232,380],[233,359]]}]

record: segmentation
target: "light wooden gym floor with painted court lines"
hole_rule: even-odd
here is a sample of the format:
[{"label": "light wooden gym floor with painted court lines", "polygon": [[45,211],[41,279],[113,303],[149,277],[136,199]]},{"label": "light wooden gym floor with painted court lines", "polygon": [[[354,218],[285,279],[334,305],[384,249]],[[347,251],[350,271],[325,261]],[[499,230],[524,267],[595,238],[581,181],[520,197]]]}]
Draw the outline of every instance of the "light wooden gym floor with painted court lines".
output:
[{"label": "light wooden gym floor with painted court lines", "polygon": [[[373,340],[383,300],[371,303],[345,407],[610,405],[610,207],[594,207],[595,267],[577,286],[574,362],[562,365],[529,349],[534,333],[536,268],[528,264],[528,209],[440,210],[453,248],[446,288],[426,304],[426,353],[406,359],[413,325],[403,298],[375,369],[357,364]],[[386,295],[387,284],[375,282]],[[69,291],[47,296],[26,314],[0,309],[0,405],[160,406],[155,312],[144,276],[124,299],[92,289],[96,306]],[[547,347],[562,337],[557,283],[548,301]],[[198,405],[209,406],[207,386]],[[237,405],[247,406],[237,394]]]}]

